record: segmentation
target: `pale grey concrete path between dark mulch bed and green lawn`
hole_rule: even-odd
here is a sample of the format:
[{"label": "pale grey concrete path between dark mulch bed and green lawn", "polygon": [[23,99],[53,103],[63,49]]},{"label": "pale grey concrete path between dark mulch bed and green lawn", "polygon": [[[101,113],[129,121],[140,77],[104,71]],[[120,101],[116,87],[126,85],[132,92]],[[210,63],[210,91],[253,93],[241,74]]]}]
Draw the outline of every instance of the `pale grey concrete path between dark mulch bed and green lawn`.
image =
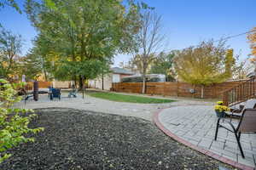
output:
[{"label": "pale grey concrete path between dark mulch bed and green lawn", "polygon": [[[166,104],[136,104],[136,103],[124,103],[124,102],[115,102],[109,101],[107,99],[97,99],[85,95],[82,99],[82,94],[78,94],[77,98],[67,98],[67,93],[61,92],[61,100],[54,99],[49,100],[47,94],[39,94],[38,101],[24,100],[20,103],[15,104],[17,107],[26,108],[26,109],[36,109],[36,108],[48,108],[48,107],[66,107],[74,108],[86,111],[98,111],[108,114],[115,114],[121,116],[136,116],[143,118],[152,122],[153,115],[156,111],[159,111],[163,108],[169,108],[177,105],[212,105],[212,102],[202,102],[198,100],[189,100],[189,99],[174,99],[176,102],[166,103]],[[133,95],[133,94],[129,94]],[[138,94],[135,94],[138,95]],[[145,95],[140,95],[145,96]],[[146,96],[149,97],[149,96]],[[151,97],[151,96],[150,96]],[[165,98],[170,99],[170,98]]]}]

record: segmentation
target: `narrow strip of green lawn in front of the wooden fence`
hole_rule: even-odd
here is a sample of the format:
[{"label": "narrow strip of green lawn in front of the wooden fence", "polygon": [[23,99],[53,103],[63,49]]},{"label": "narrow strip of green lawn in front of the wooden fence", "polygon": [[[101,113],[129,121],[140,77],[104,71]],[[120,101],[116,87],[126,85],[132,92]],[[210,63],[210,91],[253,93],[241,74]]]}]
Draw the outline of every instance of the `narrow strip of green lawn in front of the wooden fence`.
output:
[{"label": "narrow strip of green lawn in front of the wooden fence", "polygon": [[129,103],[139,103],[139,104],[161,104],[161,103],[170,103],[175,100],[172,99],[155,99],[147,98],[133,95],[124,95],[124,94],[113,94],[113,93],[93,93],[89,94],[91,97],[108,99],[112,101],[119,102],[129,102]]}]

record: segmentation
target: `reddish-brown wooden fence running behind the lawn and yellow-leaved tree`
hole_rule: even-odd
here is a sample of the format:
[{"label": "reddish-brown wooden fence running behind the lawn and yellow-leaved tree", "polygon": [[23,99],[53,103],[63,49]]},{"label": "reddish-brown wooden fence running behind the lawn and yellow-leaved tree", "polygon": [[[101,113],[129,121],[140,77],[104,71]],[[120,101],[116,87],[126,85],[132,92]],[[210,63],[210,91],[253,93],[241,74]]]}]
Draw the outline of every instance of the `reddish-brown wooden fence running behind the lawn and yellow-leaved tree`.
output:
[{"label": "reddish-brown wooden fence running behind the lawn and yellow-leaved tree", "polygon": [[[220,99],[223,92],[234,88],[245,81],[222,82],[204,87],[204,98]],[[112,90],[115,92],[142,93],[142,82],[115,82],[112,83]],[[191,90],[194,89],[194,90]],[[194,91],[195,93],[191,93]],[[146,94],[159,94],[167,96],[201,98],[201,86],[195,86],[187,82],[147,82]]]}]

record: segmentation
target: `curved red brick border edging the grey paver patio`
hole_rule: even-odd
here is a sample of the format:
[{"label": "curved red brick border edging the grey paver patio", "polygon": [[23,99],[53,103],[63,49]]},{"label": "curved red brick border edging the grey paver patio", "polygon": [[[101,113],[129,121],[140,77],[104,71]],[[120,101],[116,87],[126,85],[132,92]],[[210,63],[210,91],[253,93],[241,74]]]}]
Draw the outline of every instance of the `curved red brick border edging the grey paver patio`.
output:
[{"label": "curved red brick border edging the grey paver patio", "polygon": [[160,109],[160,111],[155,112],[154,113],[154,117],[153,117],[154,124],[157,127],[159,127],[160,130],[163,133],[166,133],[166,135],[168,135],[172,139],[177,140],[177,142],[180,142],[180,143],[188,146],[189,148],[191,148],[193,150],[199,151],[199,152],[201,152],[204,155],[211,156],[212,158],[214,158],[214,159],[216,159],[218,161],[222,161],[222,162],[224,162],[226,164],[229,164],[229,165],[231,165],[233,167],[244,169],[244,170],[256,170],[256,168],[254,168],[254,167],[249,167],[247,165],[243,165],[241,163],[237,163],[236,161],[232,161],[232,160],[230,160],[230,159],[228,159],[228,158],[226,158],[224,156],[219,156],[218,154],[215,154],[215,153],[213,153],[210,150],[205,150],[205,149],[199,148],[195,144],[191,144],[191,143],[189,143],[189,141],[179,138],[177,135],[175,135],[174,133],[172,133],[171,131],[166,129],[166,127],[164,127],[164,125],[159,120],[159,115],[160,115],[161,111],[164,111],[166,109],[168,109],[168,108]]}]

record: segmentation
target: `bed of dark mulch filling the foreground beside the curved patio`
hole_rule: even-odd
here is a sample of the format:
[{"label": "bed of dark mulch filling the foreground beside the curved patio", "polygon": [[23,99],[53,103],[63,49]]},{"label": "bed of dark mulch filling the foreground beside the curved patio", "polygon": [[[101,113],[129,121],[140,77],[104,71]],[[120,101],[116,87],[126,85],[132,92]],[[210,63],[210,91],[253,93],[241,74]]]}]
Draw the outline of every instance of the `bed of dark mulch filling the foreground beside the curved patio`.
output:
[{"label": "bed of dark mulch filling the foreground beside the curved patio", "polygon": [[167,137],[152,122],[64,108],[37,110],[34,143],[20,144],[0,169],[218,169],[219,161]]}]

